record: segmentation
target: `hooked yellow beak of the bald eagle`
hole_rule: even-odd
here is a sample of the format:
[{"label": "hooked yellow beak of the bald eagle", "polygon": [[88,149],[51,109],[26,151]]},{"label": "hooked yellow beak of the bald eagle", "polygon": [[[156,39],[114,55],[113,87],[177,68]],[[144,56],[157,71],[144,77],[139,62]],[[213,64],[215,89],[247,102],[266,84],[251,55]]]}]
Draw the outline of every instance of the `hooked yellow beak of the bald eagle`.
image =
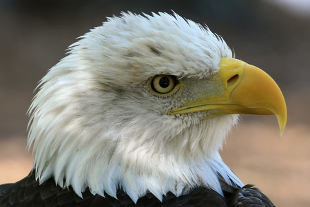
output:
[{"label": "hooked yellow beak of the bald eagle", "polygon": [[[287,122],[287,107],[276,82],[258,67],[234,58],[222,58],[220,70],[211,76],[221,88],[215,94],[201,94],[169,114],[210,110],[222,114],[276,115],[282,135]],[[209,117],[209,116],[208,116]]]}]

